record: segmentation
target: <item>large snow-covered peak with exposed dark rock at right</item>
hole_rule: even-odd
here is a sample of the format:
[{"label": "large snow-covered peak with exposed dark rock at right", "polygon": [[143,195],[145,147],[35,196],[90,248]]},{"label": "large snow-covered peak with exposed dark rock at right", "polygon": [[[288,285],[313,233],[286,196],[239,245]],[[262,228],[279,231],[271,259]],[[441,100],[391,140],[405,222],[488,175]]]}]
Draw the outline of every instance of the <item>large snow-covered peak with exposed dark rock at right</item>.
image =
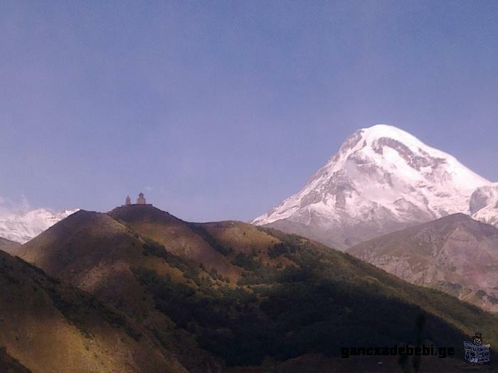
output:
[{"label": "large snow-covered peak with exposed dark rock at right", "polygon": [[477,213],[472,193],[482,188],[486,198],[473,199],[491,203],[492,185],[453,156],[378,124],[356,131],[299,193],[253,223],[344,249],[419,222]]}]

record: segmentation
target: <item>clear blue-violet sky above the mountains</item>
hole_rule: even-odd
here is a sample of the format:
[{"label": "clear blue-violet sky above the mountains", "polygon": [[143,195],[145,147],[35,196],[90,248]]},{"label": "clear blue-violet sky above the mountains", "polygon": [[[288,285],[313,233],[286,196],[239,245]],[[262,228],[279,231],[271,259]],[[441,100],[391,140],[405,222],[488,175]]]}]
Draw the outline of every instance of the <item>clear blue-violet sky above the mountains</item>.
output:
[{"label": "clear blue-violet sky above the mountains", "polygon": [[250,220],[377,123],[498,181],[497,17],[498,1],[0,1],[0,196],[106,211],[143,191],[186,220]]}]

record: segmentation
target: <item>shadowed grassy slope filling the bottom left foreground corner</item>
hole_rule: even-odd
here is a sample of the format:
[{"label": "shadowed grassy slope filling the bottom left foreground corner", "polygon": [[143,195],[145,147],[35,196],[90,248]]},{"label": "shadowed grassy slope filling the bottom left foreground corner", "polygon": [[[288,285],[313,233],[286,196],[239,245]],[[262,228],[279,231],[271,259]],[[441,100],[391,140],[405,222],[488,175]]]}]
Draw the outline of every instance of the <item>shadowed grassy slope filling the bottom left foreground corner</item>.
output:
[{"label": "shadowed grassy slope filling the bottom left foreground corner", "polygon": [[186,372],[120,311],[4,252],[0,288],[0,359],[14,372]]}]

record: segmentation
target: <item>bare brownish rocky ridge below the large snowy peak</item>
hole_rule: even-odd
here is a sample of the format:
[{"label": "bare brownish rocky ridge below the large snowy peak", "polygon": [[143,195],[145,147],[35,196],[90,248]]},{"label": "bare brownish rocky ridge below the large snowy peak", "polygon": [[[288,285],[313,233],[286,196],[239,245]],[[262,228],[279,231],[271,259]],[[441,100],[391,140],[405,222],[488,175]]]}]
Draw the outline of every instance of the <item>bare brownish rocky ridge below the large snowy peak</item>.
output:
[{"label": "bare brownish rocky ridge below the large snowy peak", "polygon": [[498,229],[467,215],[386,234],[348,252],[410,283],[498,311]]}]

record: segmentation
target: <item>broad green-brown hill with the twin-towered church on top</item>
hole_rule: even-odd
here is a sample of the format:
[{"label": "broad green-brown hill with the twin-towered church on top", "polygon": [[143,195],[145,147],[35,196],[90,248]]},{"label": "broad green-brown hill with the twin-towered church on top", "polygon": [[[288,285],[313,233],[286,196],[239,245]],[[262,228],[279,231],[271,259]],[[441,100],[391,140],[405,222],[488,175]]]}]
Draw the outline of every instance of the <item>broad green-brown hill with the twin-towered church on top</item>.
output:
[{"label": "broad green-brown hill with the twin-towered church on top", "polygon": [[460,346],[475,330],[498,342],[497,318],[475,306],[243,222],[80,211],[17,254],[126,313],[189,372],[292,371],[313,354],[330,369],[344,345]]}]

